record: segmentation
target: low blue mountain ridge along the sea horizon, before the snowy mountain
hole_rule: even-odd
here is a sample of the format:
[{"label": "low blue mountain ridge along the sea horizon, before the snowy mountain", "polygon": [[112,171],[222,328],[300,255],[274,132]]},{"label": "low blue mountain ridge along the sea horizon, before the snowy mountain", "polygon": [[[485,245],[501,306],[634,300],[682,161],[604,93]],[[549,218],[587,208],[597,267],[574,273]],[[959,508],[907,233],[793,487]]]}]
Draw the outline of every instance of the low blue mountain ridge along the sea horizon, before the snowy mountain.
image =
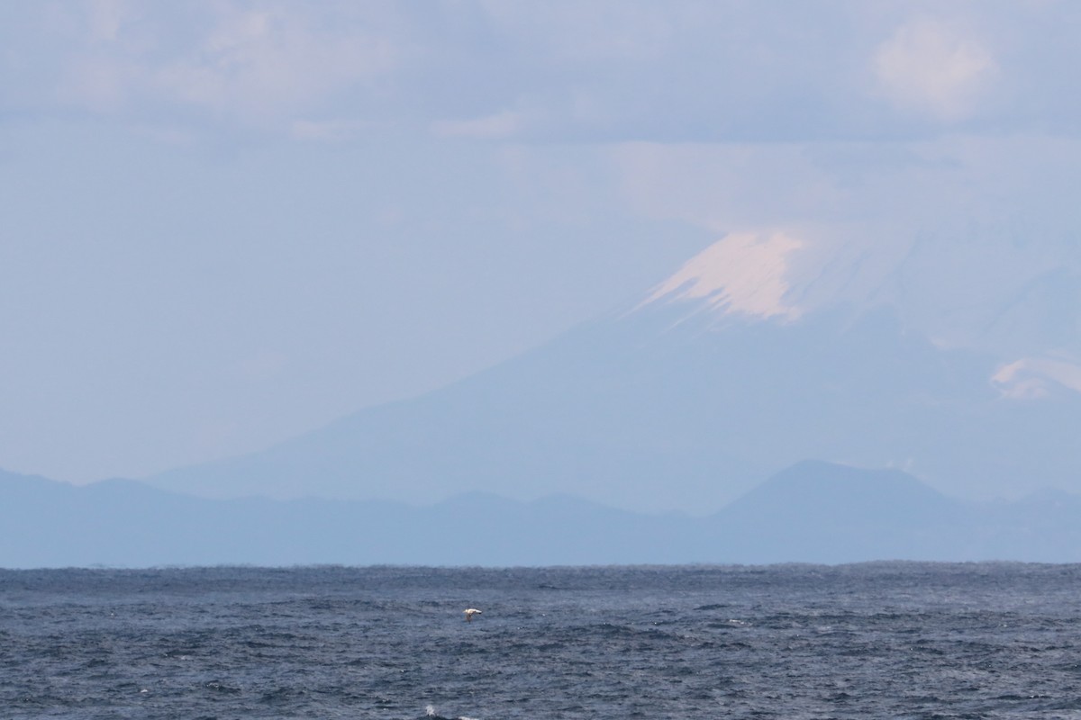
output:
[{"label": "low blue mountain ridge along the sea horizon, before the snowy mountain", "polygon": [[721,512],[643,515],[577,498],[432,505],[211,500],[133,480],[76,487],[0,472],[0,567],[550,566],[1081,561],[1081,498],[947,498],[896,470],[805,461]]}]

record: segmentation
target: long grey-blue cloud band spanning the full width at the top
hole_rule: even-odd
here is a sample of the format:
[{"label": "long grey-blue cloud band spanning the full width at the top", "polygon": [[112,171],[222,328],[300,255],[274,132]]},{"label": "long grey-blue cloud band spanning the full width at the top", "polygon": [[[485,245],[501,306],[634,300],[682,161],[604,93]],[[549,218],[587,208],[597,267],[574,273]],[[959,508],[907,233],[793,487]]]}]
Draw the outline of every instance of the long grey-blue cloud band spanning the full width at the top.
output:
[{"label": "long grey-blue cloud band spanning the full width at the top", "polygon": [[[906,19],[913,6],[923,15]],[[295,123],[494,142],[927,138],[975,118],[997,132],[1076,132],[1081,104],[1059,72],[1079,57],[1071,12],[953,3],[944,19],[930,0],[0,3],[0,110],[336,140],[349,134]]]}]

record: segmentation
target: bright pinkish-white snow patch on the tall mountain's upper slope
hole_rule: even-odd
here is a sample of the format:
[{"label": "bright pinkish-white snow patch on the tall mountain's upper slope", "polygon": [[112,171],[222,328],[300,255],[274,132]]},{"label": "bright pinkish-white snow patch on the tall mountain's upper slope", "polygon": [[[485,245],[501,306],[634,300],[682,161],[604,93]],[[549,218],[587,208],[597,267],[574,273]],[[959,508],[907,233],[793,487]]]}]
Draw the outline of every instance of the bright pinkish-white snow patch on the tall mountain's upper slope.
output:
[{"label": "bright pinkish-white snow patch on the tall mountain's upper slope", "polygon": [[791,256],[802,246],[785,232],[732,233],[691,258],[639,307],[699,300],[723,314],[796,320],[802,310],[786,298],[787,276]]}]

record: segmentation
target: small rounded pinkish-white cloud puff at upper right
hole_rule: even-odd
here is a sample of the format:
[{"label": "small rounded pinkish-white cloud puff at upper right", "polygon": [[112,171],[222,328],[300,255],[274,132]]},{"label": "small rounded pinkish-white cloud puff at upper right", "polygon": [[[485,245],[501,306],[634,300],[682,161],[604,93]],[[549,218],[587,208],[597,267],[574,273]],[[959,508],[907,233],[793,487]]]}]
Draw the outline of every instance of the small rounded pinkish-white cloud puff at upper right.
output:
[{"label": "small rounded pinkish-white cloud puff at upper right", "polygon": [[947,122],[975,112],[996,69],[995,58],[976,39],[932,19],[903,25],[873,57],[884,97],[898,108]]}]

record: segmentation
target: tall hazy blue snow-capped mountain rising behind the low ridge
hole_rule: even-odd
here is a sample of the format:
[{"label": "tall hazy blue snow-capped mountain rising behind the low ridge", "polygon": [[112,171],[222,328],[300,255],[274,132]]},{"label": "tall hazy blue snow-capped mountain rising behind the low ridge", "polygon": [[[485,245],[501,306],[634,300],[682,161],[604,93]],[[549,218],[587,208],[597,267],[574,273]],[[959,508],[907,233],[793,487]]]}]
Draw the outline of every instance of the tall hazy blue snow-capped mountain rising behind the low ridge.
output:
[{"label": "tall hazy blue snow-capped mountain rising behind the low ridge", "polygon": [[[800,247],[783,235],[733,236],[643,301],[462,382],[264,452],[148,479],[222,498],[565,492],[702,514],[823,458],[904,466],[974,498],[1081,490],[1072,437],[1081,368],[1049,358],[1035,340],[1009,355],[987,340],[1044,312],[1072,275],[1039,275],[999,311],[979,313],[998,323],[980,330],[986,342],[943,345],[906,323],[905,307],[803,302],[822,296],[815,277],[828,277],[790,286],[785,266],[771,264]],[[898,273],[882,287],[912,295]],[[1049,342],[1069,325],[1049,323]]]}]

